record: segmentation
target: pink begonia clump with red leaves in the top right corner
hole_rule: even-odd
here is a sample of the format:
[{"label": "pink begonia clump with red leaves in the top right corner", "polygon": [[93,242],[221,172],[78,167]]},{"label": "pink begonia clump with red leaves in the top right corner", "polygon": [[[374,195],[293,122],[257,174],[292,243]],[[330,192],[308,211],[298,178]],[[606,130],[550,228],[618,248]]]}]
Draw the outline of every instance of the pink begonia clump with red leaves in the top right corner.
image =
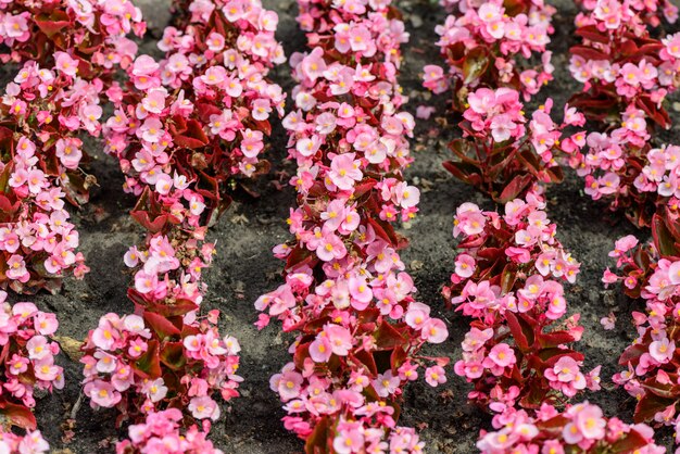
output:
[{"label": "pink begonia clump with red leaves in the top right corner", "polygon": [[[585,177],[585,193],[609,201],[612,210],[626,211],[638,226],[650,224],[656,205],[669,200],[663,193],[672,189],[664,174],[673,166],[660,171],[665,153],[655,151],[652,160],[650,141],[655,126],[670,126],[663,102],[678,86],[680,71],[680,34],[651,37],[642,3],[587,2],[588,12],[576,20],[582,43],[571,48],[569,64],[574,78],[584,85],[570,103],[602,125],[588,136],[584,152],[571,156],[570,165]],[[651,193],[657,188],[658,197]]]}]

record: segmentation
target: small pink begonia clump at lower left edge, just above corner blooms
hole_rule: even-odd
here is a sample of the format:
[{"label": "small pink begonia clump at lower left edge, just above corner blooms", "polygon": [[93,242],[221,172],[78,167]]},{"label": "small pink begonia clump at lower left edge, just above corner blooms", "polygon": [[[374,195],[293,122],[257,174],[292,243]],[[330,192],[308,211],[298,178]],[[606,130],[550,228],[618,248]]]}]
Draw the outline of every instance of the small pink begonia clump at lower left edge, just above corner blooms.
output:
[{"label": "small pink begonia clump at lower left edge, just above corner blooms", "polygon": [[34,392],[52,392],[54,388],[64,387],[64,371],[54,364],[60,348],[49,340],[59,323],[54,314],[38,311],[33,303],[16,303],[12,306],[5,302],[7,297],[0,290],[0,414],[10,425],[35,430],[36,418],[30,411],[36,406]]}]

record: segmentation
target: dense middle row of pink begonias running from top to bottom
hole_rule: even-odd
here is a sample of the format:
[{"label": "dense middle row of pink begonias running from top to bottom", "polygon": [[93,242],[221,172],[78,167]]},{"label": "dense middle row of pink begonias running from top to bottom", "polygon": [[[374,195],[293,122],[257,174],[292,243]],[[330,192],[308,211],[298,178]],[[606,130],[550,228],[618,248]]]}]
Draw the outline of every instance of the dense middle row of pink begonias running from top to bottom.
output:
[{"label": "dense middle row of pink begonias running from top to bottom", "polygon": [[414,119],[399,111],[395,76],[407,35],[389,1],[299,7],[313,50],[291,58],[299,85],[284,119],[298,164],[295,239],[274,249],[286,283],[255,303],[259,327],[277,317],[298,338],[272,389],[310,453],[420,452],[415,431],[396,426],[400,396],[418,376],[446,380],[446,360],[418,352],[448,330],[414,300],[393,228],[419,200],[402,176]]}]

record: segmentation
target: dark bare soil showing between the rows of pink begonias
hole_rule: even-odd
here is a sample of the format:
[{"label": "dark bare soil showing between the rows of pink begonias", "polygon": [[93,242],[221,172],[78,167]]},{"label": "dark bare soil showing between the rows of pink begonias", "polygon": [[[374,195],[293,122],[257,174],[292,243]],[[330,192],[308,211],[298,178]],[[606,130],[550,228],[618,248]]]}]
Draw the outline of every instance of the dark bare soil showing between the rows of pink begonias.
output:
[{"label": "dark bare soil showing between the rows of pink begonias", "polygon": [[[169,18],[167,0],[138,0],[144,15],[151,22],[151,30],[141,43],[143,52],[155,53],[154,42],[161,36]],[[421,188],[420,213],[412,225],[404,227],[411,238],[411,247],[403,252],[404,263],[413,274],[419,289],[419,299],[432,306],[432,312],[446,320],[450,338],[443,344],[430,349],[432,355],[455,358],[461,353],[461,341],[467,330],[467,321],[444,307],[441,287],[449,281],[453,269],[455,242],[452,238],[452,218],[456,206],[470,201],[486,209],[493,209],[490,199],[473,188],[456,181],[441,163],[449,157],[446,142],[459,133],[457,118],[446,113],[446,97],[431,97],[420,85],[419,74],[425,64],[439,62],[435,42],[435,26],[443,23],[445,13],[436,3],[426,0],[395,2],[404,12],[411,41],[404,46],[401,84],[411,97],[407,109],[415,114],[420,104],[435,105],[436,114],[429,121],[418,121],[416,139],[413,141],[415,163],[407,178]],[[575,43],[574,16],[576,7],[570,0],[554,0],[558,9],[554,17],[556,34],[551,46],[556,68],[555,80],[543,89],[537,105],[550,96],[559,112],[568,97],[579,90],[567,71],[567,50]],[[294,0],[268,0],[265,5],[280,16],[278,39],[284,42],[286,54],[304,50],[304,36],[294,21]],[[667,28],[677,31],[680,27]],[[15,67],[0,68],[0,81],[7,83]],[[285,89],[294,85],[287,66],[279,67],[274,78]],[[677,100],[677,96],[671,98]],[[530,109],[527,109],[530,112]],[[675,114],[678,117],[678,114]],[[678,123],[678,122],[676,122]],[[660,134],[666,142],[679,143],[679,127]],[[134,199],[121,190],[123,178],[116,162],[101,152],[98,141],[90,141],[93,155],[90,172],[97,176],[99,187],[92,192],[91,202],[74,212],[81,238],[80,250],[87,257],[91,272],[84,280],[67,279],[60,294],[39,294],[32,298],[12,297],[12,301],[35,301],[40,308],[52,311],[60,320],[60,336],[83,339],[99,317],[108,312],[123,314],[133,310],[125,297],[130,275],[123,264],[123,254],[129,244],[142,239],[143,231],[128,216]],[[223,332],[236,336],[242,345],[240,374],[245,378],[241,384],[242,396],[224,408],[225,416],[213,428],[211,438],[225,453],[295,453],[302,443],[288,433],[280,418],[284,412],[276,394],[269,390],[269,377],[289,361],[287,348],[290,337],[281,335],[276,326],[257,331],[253,326],[257,313],[255,299],[281,282],[282,264],[274,258],[272,248],[288,239],[284,219],[294,203],[293,191],[284,184],[278,190],[272,182],[280,172],[294,172],[285,160],[286,135],[280,126],[274,131],[269,160],[273,171],[260,181],[262,197],[255,199],[243,194],[212,229],[211,239],[217,242],[218,255],[205,273],[210,286],[204,306],[223,313]],[[616,358],[632,340],[634,331],[630,313],[640,308],[640,302],[626,298],[619,289],[605,290],[602,272],[613,263],[607,252],[614,241],[634,234],[641,240],[650,237],[647,230],[637,230],[621,215],[613,215],[606,206],[583,196],[582,180],[567,173],[566,181],[547,191],[549,215],[557,223],[557,236],[564,245],[581,262],[577,283],[568,289],[570,313],[580,313],[585,333],[578,349],[585,354],[590,369],[603,365],[603,390],[587,395],[602,405],[607,415],[630,420],[634,402],[628,394],[616,389],[610,381],[617,370]],[[605,331],[600,318],[614,311],[618,317],[616,328]],[[110,411],[92,411],[87,401],[77,412],[75,437],[64,438],[63,424],[78,400],[81,376],[80,365],[61,355],[60,364],[66,370],[66,388],[38,402],[38,425],[53,450],[70,450],[85,454],[112,452],[113,442],[123,432],[114,428],[115,415]],[[424,382],[406,389],[401,424],[417,427],[432,453],[471,453],[480,428],[489,428],[488,415],[469,406],[466,394],[469,387],[450,371],[449,381],[433,390]],[[659,431],[659,442],[670,449],[670,429]],[[66,451],[68,452],[68,451]]]}]

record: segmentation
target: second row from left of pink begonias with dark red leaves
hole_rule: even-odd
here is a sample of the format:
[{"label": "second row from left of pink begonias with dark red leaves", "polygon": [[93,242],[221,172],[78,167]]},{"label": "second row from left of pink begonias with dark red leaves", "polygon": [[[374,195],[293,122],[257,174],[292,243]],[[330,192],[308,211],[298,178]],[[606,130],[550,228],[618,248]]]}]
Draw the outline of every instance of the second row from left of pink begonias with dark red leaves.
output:
[{"label": "second row from left of pink begonias with dark red leaves", "polygon": [[[238,396],[238,341],[219,337],[217,311],[199,316],[201,274],[215,253],[205,234],[229,205],[237,179],[268,169],[261,154],[272,112],[282,114],[285,99],[266,78],[285,60],[275,13],[253,1],[175,5],[176,26],[159,42],[165,58],[133,62],[128,90],[115,93],[103,127],[106,151],[126,175],[124,189],[138,197],[131,216],[148,232],[125,254],[135,270],[128,290],[135,315],[102,317],[83,360],[93,407],[115,406],[119,420],[148,418],[118,445],[125,453],[166,439],[178,452],[211,452],[203,432],[219,417],[215,396]],[[203,432],[178,434],[179,420],[197,419]]]}]

